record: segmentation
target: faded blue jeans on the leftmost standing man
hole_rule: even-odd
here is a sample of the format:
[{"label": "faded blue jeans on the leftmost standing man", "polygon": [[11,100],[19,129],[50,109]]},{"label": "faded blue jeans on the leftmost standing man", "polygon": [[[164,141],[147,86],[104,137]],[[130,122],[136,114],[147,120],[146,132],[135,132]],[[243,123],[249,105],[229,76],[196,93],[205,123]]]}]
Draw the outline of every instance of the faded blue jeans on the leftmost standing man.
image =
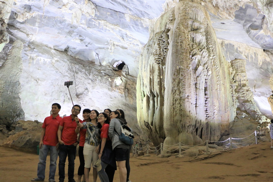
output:
[{"label": "faded blue jeans on the leftmost standing man", "polygon": [[56,161],[58,158],[58,151],[56,150],[56,146],[43,145],[43,147],[39,151],[39,163],[37,169],[37,177],[41,180],[45,178],[45,170],[46,170],[46,157],[48,152],[50,151],[50,165],[49,165],[49,180],[55,180],[55,172],[56,172]]}]

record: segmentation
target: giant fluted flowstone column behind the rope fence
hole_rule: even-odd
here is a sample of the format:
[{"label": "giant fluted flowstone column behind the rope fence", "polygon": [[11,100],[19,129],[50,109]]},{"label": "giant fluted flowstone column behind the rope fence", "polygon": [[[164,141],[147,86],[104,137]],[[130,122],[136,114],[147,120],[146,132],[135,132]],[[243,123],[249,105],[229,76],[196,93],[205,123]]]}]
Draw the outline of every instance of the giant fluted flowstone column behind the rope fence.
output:
[{"label": "giant fluted flowstone column behind the rope fence", "polygon": [[205,8],[179,2],[159,17],[140,58],[140,127],[155,144],[218,141],[236,115],[230,69]]}]

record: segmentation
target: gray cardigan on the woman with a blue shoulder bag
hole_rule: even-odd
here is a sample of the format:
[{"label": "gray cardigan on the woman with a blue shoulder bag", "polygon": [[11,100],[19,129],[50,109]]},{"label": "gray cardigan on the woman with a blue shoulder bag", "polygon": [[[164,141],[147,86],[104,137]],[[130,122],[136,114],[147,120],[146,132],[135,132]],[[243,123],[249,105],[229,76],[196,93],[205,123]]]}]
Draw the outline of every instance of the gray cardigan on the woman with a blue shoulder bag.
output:
[{"label": "gray cardigan on the woman with a blue shoulder bag", "polygon": [[[120,141],[120,139],[118,138],[121,134],[121,124],[120,121],[116,118],[112,119],[110,121],[109,124],[109,130],[108,130],[108,135],[110,137],[110,139],[112,140],[112,148],[114,150],[115,147],[117,147],[117,145],[125,145],[123,142]],[[115,130],[117,130],[117,132],[115,132]]]}]

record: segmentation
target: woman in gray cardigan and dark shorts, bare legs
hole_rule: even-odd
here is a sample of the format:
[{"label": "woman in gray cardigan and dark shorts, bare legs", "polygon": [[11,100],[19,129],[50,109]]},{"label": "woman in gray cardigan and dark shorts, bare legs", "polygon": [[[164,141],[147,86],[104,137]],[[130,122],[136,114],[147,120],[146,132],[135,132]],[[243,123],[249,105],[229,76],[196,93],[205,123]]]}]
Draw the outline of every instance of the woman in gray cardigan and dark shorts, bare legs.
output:
[{"label": "woman in gray cardigan and dark shorts, bare legs", "polygon": [[120,172],[120,182],[126,182],[126,157],[129,152],[129,145],[124,144],[118,138],[121,134],[121,121],[120,114],[118,111],[113,111],[110,113],[110,125],[108,135],[112,140],[112,148],[115,150],[116,161],[118,163],[118,169]]}]

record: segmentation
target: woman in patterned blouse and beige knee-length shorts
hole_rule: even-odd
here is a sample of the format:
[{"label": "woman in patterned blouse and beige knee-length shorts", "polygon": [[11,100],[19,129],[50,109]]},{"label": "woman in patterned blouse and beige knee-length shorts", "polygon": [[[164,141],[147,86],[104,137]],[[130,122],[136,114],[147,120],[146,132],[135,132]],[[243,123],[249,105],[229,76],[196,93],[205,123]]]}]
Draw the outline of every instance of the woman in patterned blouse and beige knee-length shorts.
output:
[{"label": "woman in patterned blouse and beige knee-length shorts", "polygon": [[93,180],[97,181],[97,169],[94,166],[94,162],[99,159],[99,155],[97,154],[97,146],[99,145],[99,127],[97,123],[97,116],[99,112],[97,110],[91,110],[90,112],[90,120],[91,122],[83,122],[77,123],[77,127],[75,132],[79,133],[79,129],[87,129],[85,135],[85,143],[84,143],[84,175],[85,181],[89,182],[89,171],[91,168],[91,162],[93,161]]}]

